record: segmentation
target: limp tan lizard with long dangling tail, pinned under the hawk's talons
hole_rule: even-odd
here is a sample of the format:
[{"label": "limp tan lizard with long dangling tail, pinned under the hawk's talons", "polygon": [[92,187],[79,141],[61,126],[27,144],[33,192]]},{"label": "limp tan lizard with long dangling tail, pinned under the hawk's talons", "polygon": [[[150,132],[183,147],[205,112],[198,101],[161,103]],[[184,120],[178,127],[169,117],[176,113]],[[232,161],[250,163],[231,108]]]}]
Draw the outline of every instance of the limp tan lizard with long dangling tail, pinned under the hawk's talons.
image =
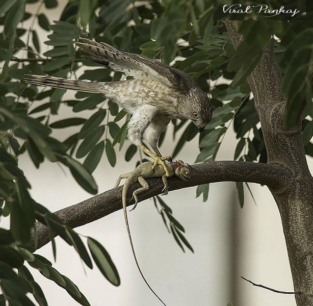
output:
[{"label": "limp tan lizard with long dangling tail, pinned under the hawk's talons", "polygon": [[123,191],[122,191],[122,203],[123,203],[123,212],[124,212],[126,230],[127,230],[127,234],[128,234],[129,243],[131,244],[133,257],[135,259],[136,266],[139,270],[139,273],[140,273],[141,277],[143,278],[144,282],[146,283],[146,285],[148,286],[148,288],[163,303],[163,305],[166,306],[166,304],[163,302],[163,300],[153,291],[153,289],[148,284],[148,282],[146,281],[146,278],[144,277],[144,275],[141,271],[141,268],[139,266],[139,263],[138,263],[138,260],[136,257],[136,253],[135,253],[135,249],[134,249],[134,245],[133,245],[133,240],[132,240],[132,236],[131,236],[131,231],[129,230],[129,223],[128,223],[127,210],[126,210],[127,191],[128,191],[129,186],[131,186],[132,183],[139,182],[142,186],[141,188],[138,188],[137,190],[135,190],[133,192],[132,199],[133,198],[135,199],[135,205],[134,205],[132,210],[134,210],[137,206],[137,203],[138,203],[138,196],[137,195],[139,193],[144,192],[144,191],[149,189],[149,185],[145,179],[147,179],[149,177],[162,177],[162,181],[164,184],[164,188],[162,190],[163,191],[162,195],[165,195],[168,193],[167,177],[176,175],[181,180],[184,180],[184,181],[189,181],[191,179],[190,178],[191,166],[189,164],[184,163],[181,160],[177,160],[176,162],[174,162],[174,161],[166,162],[165,165],[166,165],[166,168],[167,168],[168,173],[170,175],[168,175],[166,173],[163,165],[160,165],[160,164],[155,165],[154,162],[144,162],[144,163],[140,164],[138,167],[136,167],[136,169],[133,172],[127,172],[127,173],[121,174],[118,177],[114,187],[117,187],[120,184],[122,179],[126,179],[125,184],[123,186]]}]

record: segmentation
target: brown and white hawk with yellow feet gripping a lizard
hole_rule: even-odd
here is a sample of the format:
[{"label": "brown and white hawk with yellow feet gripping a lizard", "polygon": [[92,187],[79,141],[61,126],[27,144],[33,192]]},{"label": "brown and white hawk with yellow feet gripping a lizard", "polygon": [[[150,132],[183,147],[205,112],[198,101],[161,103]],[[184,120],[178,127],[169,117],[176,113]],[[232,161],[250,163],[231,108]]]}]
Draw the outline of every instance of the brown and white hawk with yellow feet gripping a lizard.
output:
[{"label": "brown and white hawk with yellow feet gripping a lizard", "polygon": [[[95,63],[109,66],[133,77],[118,82],[91,82],[42,75],[27,75],[24,81],[36,85],[101,93],[132,114],[127,124],[127,138],[154,159],[154,166],[163,165],[170,156],[162,157],[157,143],[171,119],[192,120],[199,133],[212,118],[210,99],[187,73],[141,55],[121,52],[104,42],[82,39],[76,46],[92,57]],[[144,140],[154,150],[150,151]]]}]

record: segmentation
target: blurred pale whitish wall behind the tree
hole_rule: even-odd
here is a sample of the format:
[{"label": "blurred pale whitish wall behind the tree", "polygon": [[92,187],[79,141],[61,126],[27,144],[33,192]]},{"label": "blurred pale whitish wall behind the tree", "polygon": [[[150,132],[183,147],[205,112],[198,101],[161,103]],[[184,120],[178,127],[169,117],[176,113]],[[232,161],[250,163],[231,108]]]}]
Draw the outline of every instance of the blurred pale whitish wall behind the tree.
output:
[{"label": "blurred pale whitish wall behind the tree", "polygon": [[[66,1],[62,4],[62,7]],[[30,6],[34,12],[36,5]],[[50,20],[58,19],[60,10],[42,9]],[[37,27],[37,26],[36,26]],[[38,32],[42,42],[46,32]],[[45,52],[46,45],[43,45]],[[67,92],[72,98],[74,92]],[[34,107],[39,104],[34,105]],[[81,115],[81,114],[80,114]],[[83,114],[88,116],[88,112]],[[70,116],[70,110],[61,108],[59,117]],[[54,136],[65,139],[70,135]],[[168,133],[162,152],[173,150]],[[218,160],[231,160],[237,141],[229,130],[220,148]],[[193,163],[198,154],[197,140],[188,143],[179,158]],[[112,168],[103,156],[94,172],[99,191],[114,186],[120,173],[132,171],[134,161],[124,161],[124,151],[118,154]],[[313,160],[309,159],[312,169]],[[56,211],[91,197],[75,183],[70,173],[64,175],[57,164],[45,162],[37,170],[28,155],[20,160],[20,167],[32,185],[32,196],[49,210]],[[250,184],[257,206],[245,190],[245,206],[240,209],[234,183],[211,184],[207,202],[195,198],[195,188],[170,192],[164,200],[173,209],[174,216],[185,226],[186,237],[195,249],[182,253],[168,234],[153,202],[141,202],[129,213],[129,223],[135,249],[142,270],[153,289],[170,305],[234,306],[284,305],[294,306],[293,295],[283,295],[256,288],[243,281],[243,275],[256,283],[278,290],[292,291],[289,268],[279,213],[266,187]],[[7,221],[7,220],[6,220]],[[142,281],[132,257],[122,211],[113,213],[91,224],[77,228],[77,232],[100,241],[110,253],[121,277],[121,286],[111,285],[97,270],[83,268],[73,248],[57,238],[57,262],[54,266],[81,289],[92,306],[157,306],[161,303]],[[53,262],[51,245],[38,250]],[[86,270],[86,272],[85,272]],[[62,288],[48,281],[36,270],[32,272],[42,286],[49,305],[78,305]]]}]

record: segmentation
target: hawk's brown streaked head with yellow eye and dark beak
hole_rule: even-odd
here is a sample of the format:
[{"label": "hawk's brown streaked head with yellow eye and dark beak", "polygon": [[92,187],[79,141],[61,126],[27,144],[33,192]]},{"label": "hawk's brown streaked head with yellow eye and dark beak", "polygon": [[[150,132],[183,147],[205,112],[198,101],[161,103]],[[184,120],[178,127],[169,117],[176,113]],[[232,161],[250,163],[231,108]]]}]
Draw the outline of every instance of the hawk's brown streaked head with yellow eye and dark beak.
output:
[{"label": "hawk's brown streaked head with yellow eye and dark beak", "polygon": [[198,128],[199,133],[212,119],[212,107],[207,94],[200,88],[192,88],[179,106],[179,114],[184,119],[190,119]]}]

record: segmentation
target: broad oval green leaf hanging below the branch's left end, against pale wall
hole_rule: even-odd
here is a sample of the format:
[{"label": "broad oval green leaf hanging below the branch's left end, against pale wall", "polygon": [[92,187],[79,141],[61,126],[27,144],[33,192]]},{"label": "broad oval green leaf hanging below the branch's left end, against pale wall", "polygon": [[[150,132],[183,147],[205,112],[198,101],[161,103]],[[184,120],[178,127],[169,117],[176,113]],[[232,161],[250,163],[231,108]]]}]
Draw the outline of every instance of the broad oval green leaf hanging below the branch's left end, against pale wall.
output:
[{"label": "broad oval green leaf hanging below the branch's left end, against pale wall", "polygon": [[88,237],[87,243],[91,256],[100,272],[114,286],[119,286],[121,281],[117,269],[106,249],[96,240]]}]

